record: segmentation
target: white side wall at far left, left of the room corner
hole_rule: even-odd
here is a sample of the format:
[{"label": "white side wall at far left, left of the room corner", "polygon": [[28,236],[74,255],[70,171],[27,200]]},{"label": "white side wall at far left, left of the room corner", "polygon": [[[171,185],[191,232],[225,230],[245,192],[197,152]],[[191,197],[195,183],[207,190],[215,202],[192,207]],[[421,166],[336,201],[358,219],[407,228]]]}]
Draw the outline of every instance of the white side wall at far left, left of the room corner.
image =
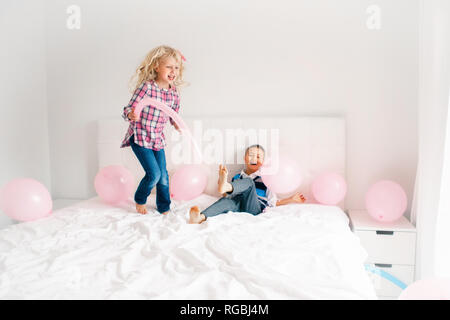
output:
[{"label": "white side wall at far left, left of the room corner", "polygon": [[0,187],[25,177],[50,190],[44,24],[42,0],[0,2]]}]

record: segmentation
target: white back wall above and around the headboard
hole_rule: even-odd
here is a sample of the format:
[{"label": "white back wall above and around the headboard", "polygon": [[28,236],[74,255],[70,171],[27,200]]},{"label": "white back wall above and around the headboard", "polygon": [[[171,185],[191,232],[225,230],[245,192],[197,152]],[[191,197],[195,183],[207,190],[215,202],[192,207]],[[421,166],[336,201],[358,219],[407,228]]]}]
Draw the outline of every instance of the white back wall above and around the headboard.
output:
[{"label": "white back wall above and around the headboard", "polygon": [[[128,80],[160,44],[187,59],[182,115],[345,115],[347,206],[379,179],[412,198],[417,164],[418,0],[47,2],[48,102],[56,197],[95,194],[95,121],[120,117]],[[301,137],[300,137],[301,138]]]}]

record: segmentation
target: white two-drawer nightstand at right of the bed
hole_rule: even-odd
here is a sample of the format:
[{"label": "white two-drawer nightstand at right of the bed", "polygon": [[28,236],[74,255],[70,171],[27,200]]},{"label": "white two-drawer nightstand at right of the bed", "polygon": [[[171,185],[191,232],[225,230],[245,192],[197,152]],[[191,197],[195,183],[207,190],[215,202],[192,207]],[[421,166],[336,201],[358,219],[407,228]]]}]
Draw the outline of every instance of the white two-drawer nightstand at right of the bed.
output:
[{"label": "white two-drawer nightstand at right of the bed", "polygon": [[382,223],[365,210],[349,210],[348,215],[353,232],[369,255],[367,267],[386,276],[368,271],[372,274],[378,297],[396,299],[402,291],[398,284],[414,282],[416,228],[405,217]]}]

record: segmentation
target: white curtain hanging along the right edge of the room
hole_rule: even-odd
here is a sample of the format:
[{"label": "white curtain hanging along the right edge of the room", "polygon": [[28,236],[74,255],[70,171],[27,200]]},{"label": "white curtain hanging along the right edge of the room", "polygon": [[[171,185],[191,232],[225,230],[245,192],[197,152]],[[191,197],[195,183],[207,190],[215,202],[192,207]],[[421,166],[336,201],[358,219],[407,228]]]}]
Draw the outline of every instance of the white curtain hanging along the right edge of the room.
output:
[{"label": "white curtain hanging along the right edge of the room", "polygon": [[[419,164],[412,218],[417,226],[416,278],[444,270],[436,264],[448,258],[448,194],[444,157],[450,90],[450,2],[422,0],[420,19]],[[450,139],[450,136],[449,138]],[[450,144],[450,142],[447,142]],[[448,159],[450,160],[450,159]],[[448,164],[447,164],[448,165]],[[448,173],[447,173],[448,176]],[[445,190],[445,189],[444,189]],[[446,189],[450,190],[450,188]],[[439,215],[441,217],[439,218]],[[438,219],[439,218],[439,219]],[[439,223],[438,221],[441,220]],[[440,232],[438,232],[440,231]],[[440,240],[439,240],[440,239]],[[447,241],[445,241],[446,239]],[[446,254],[445,254],[446,253]],[[448,276],[448,270],[447,276]]]}]

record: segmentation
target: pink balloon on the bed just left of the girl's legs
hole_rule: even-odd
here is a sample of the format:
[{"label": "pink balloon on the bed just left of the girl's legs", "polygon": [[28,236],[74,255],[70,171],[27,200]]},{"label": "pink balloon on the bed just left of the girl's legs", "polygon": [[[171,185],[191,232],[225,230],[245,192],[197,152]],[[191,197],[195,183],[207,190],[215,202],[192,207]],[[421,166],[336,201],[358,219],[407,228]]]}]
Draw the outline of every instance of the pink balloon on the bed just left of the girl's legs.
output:
[{"label": "pink balloon on the bed just left of the girl's legs", "polygon": [[134,176],[127,168],[111,165],[100,169],[95,176],[94,186],[104,202],[117,205],[133,194],[134,182]]}]

